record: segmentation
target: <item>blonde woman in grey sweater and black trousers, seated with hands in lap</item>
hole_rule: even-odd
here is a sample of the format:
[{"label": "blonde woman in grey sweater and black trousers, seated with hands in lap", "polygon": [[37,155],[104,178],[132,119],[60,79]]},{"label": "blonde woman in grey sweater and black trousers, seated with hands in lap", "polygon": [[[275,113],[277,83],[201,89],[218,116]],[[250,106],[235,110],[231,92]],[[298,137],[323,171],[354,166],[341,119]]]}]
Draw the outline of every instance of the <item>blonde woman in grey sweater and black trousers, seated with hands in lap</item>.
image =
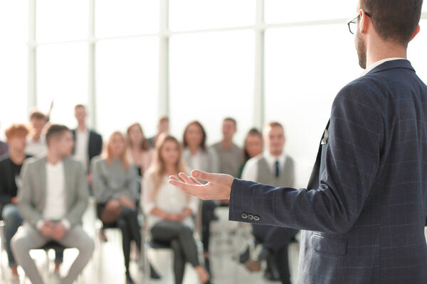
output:
[{"label": "blonde woman in grey sweater and black trousers, seated with hands in lap", "polygon": [[135,241],[141,251],[141,233],[137,216],[137,169],[126,158],[126,139],[116,131],[108,139],[106,152],[93,160],[93,192],[100,219],[115,224],[122,231],[127,284],[135,283],[130,276],[130,243]]}]

